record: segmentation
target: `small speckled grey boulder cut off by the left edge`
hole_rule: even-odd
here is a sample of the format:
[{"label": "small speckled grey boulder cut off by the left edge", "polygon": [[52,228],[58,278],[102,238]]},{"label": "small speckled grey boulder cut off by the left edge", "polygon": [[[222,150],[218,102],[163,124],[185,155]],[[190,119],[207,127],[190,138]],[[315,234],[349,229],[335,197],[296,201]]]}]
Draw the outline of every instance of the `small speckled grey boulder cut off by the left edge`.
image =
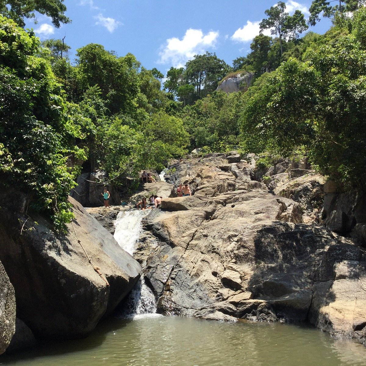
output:
[{"label": "small speckled grey boulder cut off by the left edge", "polygon": [[15,296],[3,264],[0,262],[0,354],[4,353],[15,332]]}]

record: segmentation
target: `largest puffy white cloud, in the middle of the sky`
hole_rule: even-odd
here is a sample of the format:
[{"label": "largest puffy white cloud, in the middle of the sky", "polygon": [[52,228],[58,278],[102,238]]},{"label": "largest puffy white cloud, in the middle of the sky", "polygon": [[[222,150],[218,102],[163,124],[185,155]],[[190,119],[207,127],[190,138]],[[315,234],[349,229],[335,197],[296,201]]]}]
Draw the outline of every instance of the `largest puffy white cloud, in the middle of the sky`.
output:
[{"label": "largest puffy white cloud, in the middle of the sky", "polygon": [[201,29],[187,29],[182,40],[169,38],[166,45],[161,47],[158,63],[182,67],[188,60],[193,59],[194,55],[213,48],[218,37],[219,32],[210,31],[203,34]]}]

